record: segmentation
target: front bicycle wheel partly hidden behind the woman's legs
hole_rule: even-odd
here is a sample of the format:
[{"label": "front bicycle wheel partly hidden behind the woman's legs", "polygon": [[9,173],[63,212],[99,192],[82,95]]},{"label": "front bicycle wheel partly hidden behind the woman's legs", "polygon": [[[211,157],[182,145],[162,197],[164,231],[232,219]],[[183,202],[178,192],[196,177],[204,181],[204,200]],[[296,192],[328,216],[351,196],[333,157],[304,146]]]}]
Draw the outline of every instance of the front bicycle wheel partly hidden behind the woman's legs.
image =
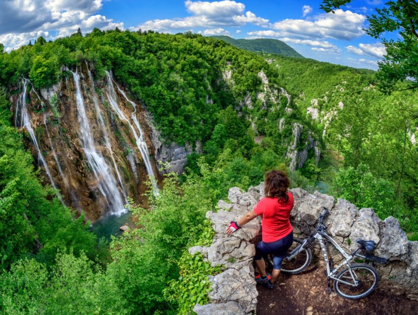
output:
[{"label": "front bicycle wheel partly hidden behind the woman's legs", "polygon": [[[296,275],[304,271],[311,264],[312,252],[310,248],[304,248],[297,256],[292,260],[288,260],[288,257],[297,246],[303,243],[303,240],[294,238],[292,246],[289,248],[288,253],[282,263],[282,273],[287,275]],[[273,254],[267,257],[268,266],[273,266]]]}]

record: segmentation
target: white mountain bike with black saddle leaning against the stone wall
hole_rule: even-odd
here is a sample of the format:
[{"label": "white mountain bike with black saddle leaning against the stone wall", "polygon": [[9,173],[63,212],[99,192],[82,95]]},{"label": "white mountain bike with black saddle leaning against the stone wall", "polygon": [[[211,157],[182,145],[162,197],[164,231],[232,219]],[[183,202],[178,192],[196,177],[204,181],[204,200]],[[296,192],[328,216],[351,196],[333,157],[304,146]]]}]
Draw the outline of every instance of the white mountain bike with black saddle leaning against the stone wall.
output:
[{"label": "white mountain bike with black saddle leaning against the stone wall", "polygon": [[[365,241],[357,239],[359,248],[353,251],[351,255],[345,251],[325,233],[327,226],[323,223],[324,218],[328,215],[329,210],[324,207],[324,212],[319,216],[316,232],[309,237],[301,240],[294,238],[293,244],[288,250],[288,254],[282,263],[282,273],[295,275],[306,270],[312,261],[312,251],[308,247],[314,241],[318,241],[322,254],[324,256],[327,276],[327,293],[331,293],[331,280],[335,292],[347,299],[360,299],[368,296],[373,292],[379,282],[379,275],[376,268],[369,264],[352,263],[355,258],[360,258],[375,263],[385,264],[385,258],[373,256],[370,253],[376,248],[376,243],[373,240]],[[325,241],[331,243],[344,258],[343,262],[335,268],[332,268],[330,259],[328,258]],[[268,255],[264,258],[268,266],[272,266],[273,255]],[[344,269],[340,270],[343,266]],[[340,270],[340,271],[339,271]]]}]

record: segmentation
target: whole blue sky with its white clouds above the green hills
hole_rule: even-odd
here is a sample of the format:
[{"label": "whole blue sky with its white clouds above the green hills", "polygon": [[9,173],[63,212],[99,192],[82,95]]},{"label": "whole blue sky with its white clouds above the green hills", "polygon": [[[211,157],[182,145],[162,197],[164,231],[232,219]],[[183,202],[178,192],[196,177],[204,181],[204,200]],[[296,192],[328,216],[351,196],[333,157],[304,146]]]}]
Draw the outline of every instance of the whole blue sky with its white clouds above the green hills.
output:
[{"label": "whole blue sky with its white clouds above the green hills", "polygon": [[377,69],[384,47],[364,33],[380,0],[354,0],[335,14],[321,1],[2,0],[0,42],[7,51],[44,36],[54,39],[78,27],[153,29],[234,38],[280,39],[306,57]]}]

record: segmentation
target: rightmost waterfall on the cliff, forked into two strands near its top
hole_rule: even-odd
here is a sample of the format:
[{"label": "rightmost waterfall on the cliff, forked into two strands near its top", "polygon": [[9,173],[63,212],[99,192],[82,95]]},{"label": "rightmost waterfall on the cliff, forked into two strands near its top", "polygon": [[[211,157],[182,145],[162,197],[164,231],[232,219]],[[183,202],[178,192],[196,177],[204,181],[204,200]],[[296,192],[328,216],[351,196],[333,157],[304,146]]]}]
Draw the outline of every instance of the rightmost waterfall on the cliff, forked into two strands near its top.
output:
[{"label": "rightmost waterfall on the cliff, forked into two strands near its top", "polygon": [[[131,119],[132,119],[132,121],[133,121],[133,123],[136,127],[136,129],[135,129],[133,127],[133,125],[131,124],[131,122],[129,121],[129,119],[123,113],[122,109],[119,107],[119,104],[116,100],[116,92],[115,92],[115,89],[113,87],[113,80],[112,80],[111,73],[106,71],[106,77],[107,77],[106,95],[107,95],[107,98],[109,100],[109,104],[112,107],[112,109],[116,112],[116,114],[119,116],[119,118],[121,120],[126,121],[127,124],[129,125],[129,128],[132,131],[133,136],[135,137],[136,146],[137,146],[138,150],[140,151],[141,156],[144,160],[145,167],[147,169],[148,176],[150,177],[150,181],[151,181],[151,184],[153,186],[154,193],[156,195],[158,195],[159,194],[158,186],[157,186],[154,170],[153,170],[153,167],[152,167],[152,164],[151,164],[151,161],[150,161],[150,155],[148,153],[148,146],[147,146],[147,143],[145,142],[145,139],[144,139],[144,133],[142,131],[141,124],[139,123],[139,121],[136,118],[136,104],[134,102],[130,101],[127,98],[125,92],[123,92],[123,90],[120,89],[119,86],[115,83],[119,93],[122,94],[122,96],[126,99],[126,101],[129,102],[133,106],[133,112],[131,114]],[[138,133],[139,133],[139,136],[138,136]]]}]

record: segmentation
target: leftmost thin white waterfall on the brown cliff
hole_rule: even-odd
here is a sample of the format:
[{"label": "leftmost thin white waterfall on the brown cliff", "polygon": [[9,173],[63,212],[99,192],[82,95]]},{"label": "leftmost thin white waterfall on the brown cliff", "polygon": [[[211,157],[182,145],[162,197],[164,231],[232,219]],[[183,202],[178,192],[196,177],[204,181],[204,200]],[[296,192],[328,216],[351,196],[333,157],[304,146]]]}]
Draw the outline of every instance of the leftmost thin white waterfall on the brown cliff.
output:
[{"label": "leftmost thin white waterfall on the brown cliff", "polygon": [[[51,182],[52,186],[58,190],[52,175],[51,175],[51,171],[49,170],[48,164],[46,164],[46,161],[42,155],[41,149],[39,147],[38,141],[36,140],[35,137],[35,133],[33,131],[32,125],[31,125],[31,119],[28,113],[28,109],[26,107],[26,91],[27,91],[27,87],[28,87],[28,81],[27,79],[23,79],[23,92],[20,95],[20,97],[18,98],[17,104],[16,104],[16,116],[15,116],[15,126],[16,127],[22,127],[22,128],[26,128],[26,130],[28,131],[31,139],[32,139],[32,143],[34,144],[36,151],[38,153],[38,164],[40,164],[39,162],[41,162],[41,164],[43,165],[43,168],[45,170],[46,175],[49,178],[49,181]],[[20,111],[19,111],[20,109]],[[17,124],[17,120],[18,120],[18,114],[20,114],[21,119],[20,119],[20,124]],[[64,204],[64,201],[62,200],[61,196],[59,193],[57,193],[57,197],[59,199],[59,201]]]}]

